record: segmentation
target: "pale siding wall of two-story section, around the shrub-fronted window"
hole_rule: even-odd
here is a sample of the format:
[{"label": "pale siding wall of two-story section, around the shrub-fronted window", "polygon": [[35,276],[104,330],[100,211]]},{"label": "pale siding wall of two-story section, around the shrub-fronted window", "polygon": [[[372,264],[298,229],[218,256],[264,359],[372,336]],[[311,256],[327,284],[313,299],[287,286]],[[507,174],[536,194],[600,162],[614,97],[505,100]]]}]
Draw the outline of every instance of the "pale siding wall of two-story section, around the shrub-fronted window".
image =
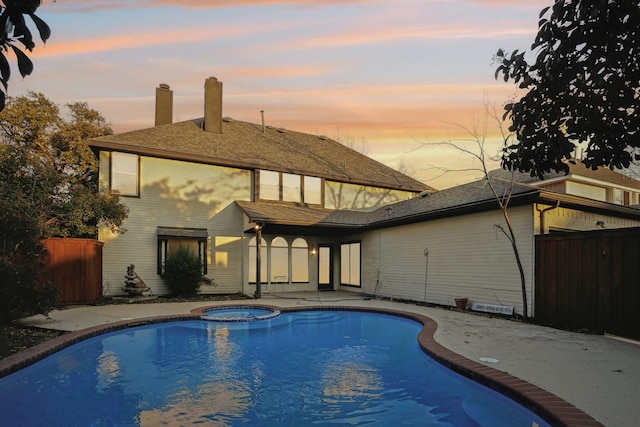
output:
[{"label": "pale siding wall of two-story section, around the shrub-fronted window", "polygon": [[129,264],[136,266],[136,272],[154,294],[167,293],[157,273],[158,226],[206,228],[210,236],[207,276],[218,286],[203,290],[241,291],[243,218],[235,205],[229,205],[234,200],[250,200],[250,189],[249,171],[141,158],[140,197],[122,199],[129,207],[129,217],[124,223],[127,232],[114,235],[108,229],[100,230],[99,239],[105,243],[104,294],[123,293],[121,288]]}]

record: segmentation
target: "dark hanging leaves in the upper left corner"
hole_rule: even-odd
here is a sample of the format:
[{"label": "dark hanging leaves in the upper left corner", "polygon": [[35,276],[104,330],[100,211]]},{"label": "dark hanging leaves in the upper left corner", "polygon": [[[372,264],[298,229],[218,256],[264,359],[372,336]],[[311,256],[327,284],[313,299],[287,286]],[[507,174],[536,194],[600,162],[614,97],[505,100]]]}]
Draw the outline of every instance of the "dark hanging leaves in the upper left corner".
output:
[{"label": "dark hanging leaves in the upper left corner", "polygon": [[16,43],[22,44],[29,52],[33,51],[35,43],[33,35],[27,26],[25,15],[29,16],[40,34],[40,39],[46,43],[51,36],[51,29],[38,16],[36,10],[40,7],[40,0],[2,0],[4,7],[0,6],[0,111],[4,109],[6,95],[11,77],[11,67],[7,60],[9,49],[13,51],[18,60],[18,71],[22,77],[33,72],[33,62]]}]

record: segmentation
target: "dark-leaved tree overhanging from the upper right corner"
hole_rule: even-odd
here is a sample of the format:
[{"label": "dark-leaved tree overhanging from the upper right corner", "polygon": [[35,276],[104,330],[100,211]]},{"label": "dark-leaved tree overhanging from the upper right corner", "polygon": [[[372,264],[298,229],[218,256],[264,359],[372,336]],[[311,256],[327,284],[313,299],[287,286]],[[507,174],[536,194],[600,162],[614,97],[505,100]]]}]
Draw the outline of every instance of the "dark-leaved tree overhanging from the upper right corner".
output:
[{"label": "dark-leaved tree overhanging from the upper right corner", "polygon": [[543,177],[568,173],[577,144],[592,169],[626,168],[640,154],[640,2],[556,0],[540,13],[531,46],[496,54],[503,75],[526,94],[505,105],[517,142],[502,166]]}]

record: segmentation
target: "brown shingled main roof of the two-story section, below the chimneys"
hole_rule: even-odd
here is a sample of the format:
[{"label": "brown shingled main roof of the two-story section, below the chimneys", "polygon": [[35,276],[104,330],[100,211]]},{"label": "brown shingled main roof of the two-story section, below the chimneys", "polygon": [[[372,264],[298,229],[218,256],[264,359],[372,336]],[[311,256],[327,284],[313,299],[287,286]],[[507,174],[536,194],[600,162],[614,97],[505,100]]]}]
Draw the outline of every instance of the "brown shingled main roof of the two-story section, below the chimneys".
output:
[{"label": "brown shingled main roof of the two-story section, below the chimneys", "polygon": [[[264,132],[263,132],[264,129]],[[225,119],[222,133],[188,120],[94,138],[89,145],[145,156],[243,169],[267,169],[329,180],[421,192],[428,185],[330,138]]]}]

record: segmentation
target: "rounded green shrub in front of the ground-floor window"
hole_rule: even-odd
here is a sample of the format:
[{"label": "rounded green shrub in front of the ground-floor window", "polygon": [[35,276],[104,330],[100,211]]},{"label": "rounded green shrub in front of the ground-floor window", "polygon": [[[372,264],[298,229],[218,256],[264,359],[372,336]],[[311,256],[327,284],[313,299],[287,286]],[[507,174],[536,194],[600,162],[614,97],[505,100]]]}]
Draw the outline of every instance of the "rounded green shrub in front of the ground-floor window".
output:
[{"label": "rounded green shrub in front of the ground-floor window", "polygon": [[195,295],[200,284],[208,281],[202,275],[202,261],[186,246],[179,247],[167,257],[162,280],[173,295]]}]

